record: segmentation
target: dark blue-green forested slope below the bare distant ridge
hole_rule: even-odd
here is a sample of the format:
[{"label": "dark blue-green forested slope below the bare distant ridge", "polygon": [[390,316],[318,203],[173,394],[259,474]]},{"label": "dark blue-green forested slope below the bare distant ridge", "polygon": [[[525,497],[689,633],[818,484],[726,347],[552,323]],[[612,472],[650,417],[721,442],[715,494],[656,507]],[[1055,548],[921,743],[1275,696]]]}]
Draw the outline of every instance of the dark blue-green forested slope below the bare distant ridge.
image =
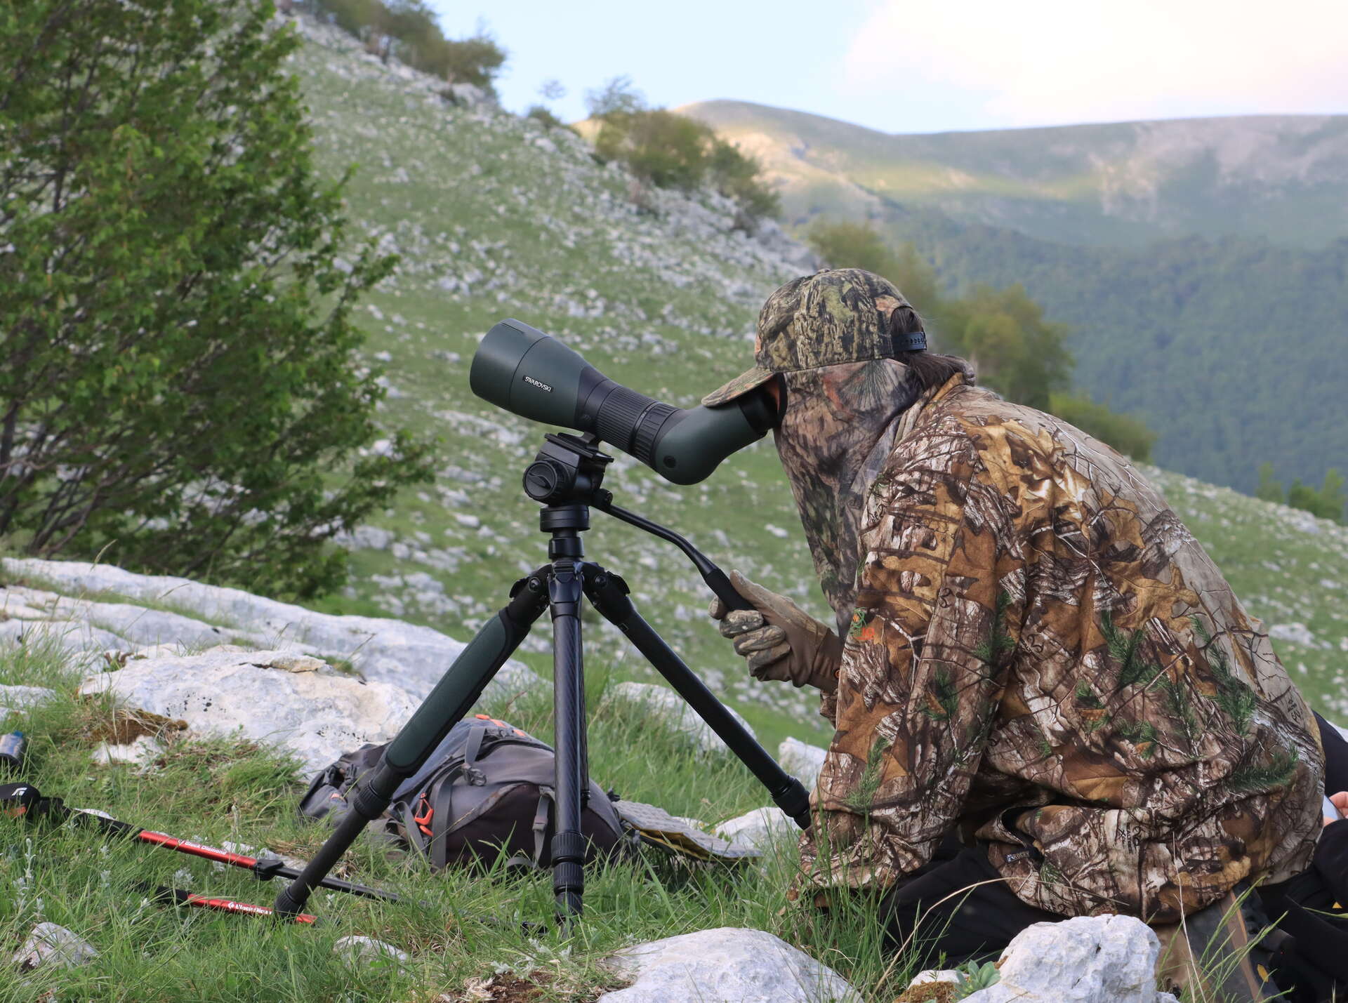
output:
[{"label": "dark blue-green forested slope below the bare distant ridge", "polygon": [[1070,325],[1077,383],[1143,415],[1162,466],[1250,493],[1264,461],[1312,484],[1348,468],[1348,239],[1317,251],[1204,237],[1131,251],[894,205],[883,220],[950,287],[1020,283]]}]

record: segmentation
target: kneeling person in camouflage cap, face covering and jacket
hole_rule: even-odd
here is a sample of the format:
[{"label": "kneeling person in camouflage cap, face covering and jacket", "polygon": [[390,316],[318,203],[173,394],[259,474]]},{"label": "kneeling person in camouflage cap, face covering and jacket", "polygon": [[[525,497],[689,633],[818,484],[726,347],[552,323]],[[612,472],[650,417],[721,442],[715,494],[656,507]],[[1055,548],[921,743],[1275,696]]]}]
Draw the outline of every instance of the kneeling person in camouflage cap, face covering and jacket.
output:
[{"label": "kneeling person in camouflage cap, face covering and jacket", "polygon": [[[1316,725],[1260,624],[1165,499],[1081,430],[975,386],[860,270],[767,301],[759,386],[836,624],[743,576],[712,616],[836,732],[797,896],[876,896],[890,942],[996,957],[1045,919],[1236,937],[1305,871]],[[836,630],[834,630],[836,627]],[[925,941],[925,942],[923,942]],[[1194,952],[1196,954],[1200,952]],[[1239,953],[1239,950],[1237,950]],[[1271,990],[1248,963],[1221,988]]]}]

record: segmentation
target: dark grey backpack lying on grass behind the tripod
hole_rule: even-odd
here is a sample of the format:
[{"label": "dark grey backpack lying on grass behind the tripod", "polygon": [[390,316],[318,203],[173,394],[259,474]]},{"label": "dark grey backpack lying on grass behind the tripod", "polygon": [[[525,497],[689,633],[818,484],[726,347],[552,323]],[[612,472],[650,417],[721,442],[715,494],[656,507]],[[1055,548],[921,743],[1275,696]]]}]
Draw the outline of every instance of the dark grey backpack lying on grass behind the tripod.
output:
[{"label": "dark grey backpack lying on grass behind the tripod", "polygon": [[[322,770],[299,802],[301,816],[338,821],[348,810],[346,793],[379,764],[386,746],[361,746]],[[371,830],[392,848],[415,849],[437,871],[491,865],[500,855],[507,867],[549,867],[554,759],[551,746],[506,721],[464,719],[403,781]],[[589,840],[585,863],[632,843],[593,781],[581,832]]]}]

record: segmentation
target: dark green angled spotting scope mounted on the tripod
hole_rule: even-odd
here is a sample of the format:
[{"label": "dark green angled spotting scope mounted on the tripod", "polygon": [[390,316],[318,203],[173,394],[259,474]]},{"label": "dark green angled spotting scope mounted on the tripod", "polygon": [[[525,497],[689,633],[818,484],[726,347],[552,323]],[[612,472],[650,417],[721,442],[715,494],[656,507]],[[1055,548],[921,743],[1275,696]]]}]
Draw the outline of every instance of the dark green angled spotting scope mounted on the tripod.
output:
[{"label": "dark green angled spotting scope mounted on the tripod", "polygon": [[589,431],[675,484],[697,484],[780,415],[766,388],[717,407],[682,408],[638,394],[522,321],[496,324],[473,355],[483,400],[546,425]]}]

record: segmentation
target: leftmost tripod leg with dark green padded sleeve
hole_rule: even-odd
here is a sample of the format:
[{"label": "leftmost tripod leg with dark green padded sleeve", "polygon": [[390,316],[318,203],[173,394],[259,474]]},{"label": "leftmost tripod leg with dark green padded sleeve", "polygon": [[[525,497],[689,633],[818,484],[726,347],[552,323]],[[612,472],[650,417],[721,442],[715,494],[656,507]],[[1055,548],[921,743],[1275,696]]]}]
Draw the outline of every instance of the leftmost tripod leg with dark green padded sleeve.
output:
[{"label": "leftmost tripod leg with dark green padded sleeve", "polygon": [[547,608],[546,573],[545,568],[515,584],[510,605],[477,631],[398,737],[388,743],[371,779],[359,785],[350,799],[350,812],[299,876],[276,895],[275,910],[279,915],[295,915],[305,907],[310,892],[337,865],[341,855],[371,821],[384,813],[399,785],[421,768],[441,739],[468,713],[496,670],[506,665],[530,626]]}]

